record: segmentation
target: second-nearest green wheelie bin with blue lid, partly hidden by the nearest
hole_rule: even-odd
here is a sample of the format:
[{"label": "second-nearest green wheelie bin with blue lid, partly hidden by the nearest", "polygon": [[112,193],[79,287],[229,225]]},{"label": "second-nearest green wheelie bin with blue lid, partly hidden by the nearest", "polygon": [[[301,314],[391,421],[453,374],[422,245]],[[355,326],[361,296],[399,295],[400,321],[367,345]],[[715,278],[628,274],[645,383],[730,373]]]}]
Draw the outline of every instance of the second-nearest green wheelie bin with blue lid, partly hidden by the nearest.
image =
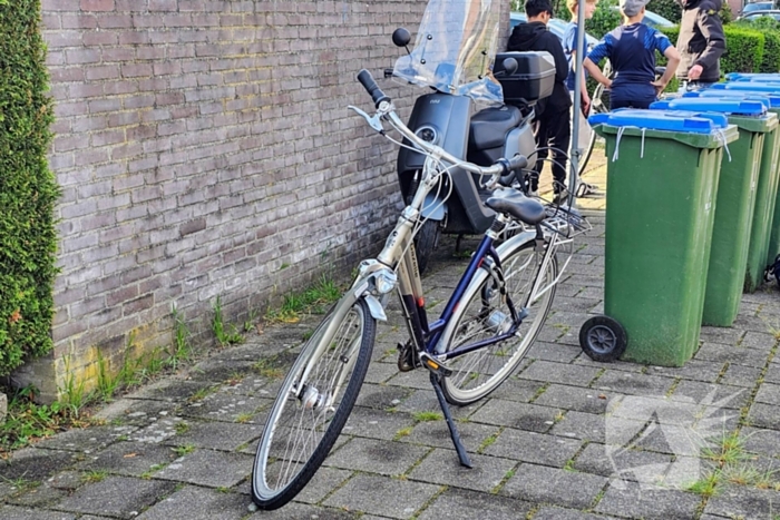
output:
[{"label": "second-nearest green wheelie bin with blue lid, partly hidden by the nearest", "polygon": [[764,138],[771,140],[766,149],[773,153],[778,117],[767,112],[766,100],[733,97],[684,97],[659,101],[651,108],[727,114],[729,124],[739,130],[739,139],[728,146],[721,161],[702,314],[704,325],[731,326],[739,313],[748,268]]}]

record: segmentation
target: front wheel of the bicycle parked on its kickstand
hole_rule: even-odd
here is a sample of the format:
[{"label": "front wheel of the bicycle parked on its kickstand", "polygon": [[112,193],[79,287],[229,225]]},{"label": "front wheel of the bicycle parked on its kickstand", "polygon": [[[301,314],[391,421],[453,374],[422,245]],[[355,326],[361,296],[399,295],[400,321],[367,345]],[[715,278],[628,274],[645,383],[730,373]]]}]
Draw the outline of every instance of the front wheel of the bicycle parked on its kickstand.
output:
[{"label": "front wheel of the bicycle parked on its kickstand", "polygon": [[[334,320],[339,324],[329,334],[329,325]],[[305,343],[282,383],[257,445],[252,472],[252,500],[259,508],[273,510],[287,503],[325,460],[358,399],[371,360],[376,334],[377,322],[365,301],[361,298],[351,305],[342,301]],[[323,343],[329,346],[323,347],[325,350],[322,355],[313,359]],[[351,374],[348,373],[345,384],[337,389],[337,393],[341,390],[343,394],[334,395],[330,402],[328,398],[333,389],[325,385],[334,385],[340,370],[344,366],[350,370],[349,363],[353,359]],[[321,362],[324,370],[318,370]],[[301,392],[303,398],[290,399],[306,367],[311,370],[306,390]],[[330,405],[321,406],[322,400],[329,401]],[[292,421],[286,421],[285,411],[292,412]],[[298,448],[302,449],[301,455],[292,452]],[[276,484],[272,488],[274,479]]]}]

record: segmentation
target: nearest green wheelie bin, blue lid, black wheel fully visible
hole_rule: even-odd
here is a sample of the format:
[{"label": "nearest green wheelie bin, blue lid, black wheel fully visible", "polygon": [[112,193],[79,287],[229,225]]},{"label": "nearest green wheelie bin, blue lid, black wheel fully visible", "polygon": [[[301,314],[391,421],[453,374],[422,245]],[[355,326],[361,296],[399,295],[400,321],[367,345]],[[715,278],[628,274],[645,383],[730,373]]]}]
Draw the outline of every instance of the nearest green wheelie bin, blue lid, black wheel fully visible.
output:
[{"label": "nearest green wheelie bin, blue lid, black wheel fully visible", "polygon": [[682,366],[699,347],[719,170],[738,129],[662,110],[591,125],[606,139],[605,316],[582,326],[581,346],[607,361],[623,343],[625,360]]}]

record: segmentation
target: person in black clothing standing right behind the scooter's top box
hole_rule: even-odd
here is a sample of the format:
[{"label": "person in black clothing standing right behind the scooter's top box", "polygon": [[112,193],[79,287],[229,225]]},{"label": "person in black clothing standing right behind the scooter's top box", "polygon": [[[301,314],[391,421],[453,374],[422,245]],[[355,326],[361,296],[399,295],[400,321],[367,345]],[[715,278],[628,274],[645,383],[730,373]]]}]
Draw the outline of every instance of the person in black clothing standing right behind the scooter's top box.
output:
[{"label": "person in black clothing standing right behind the scooter's top box", "polygon": [[536,104],[536,156],[535,171],[530,176],[530,194],[538,195],[539,173],[548,157],[548,147],[555,148],[553,155],[553,189],[555,202],[566,199],[566,151],[572,139],[572,99],[566,88],[568,77],[568,60],[564,53],[558,37],[547,30],[547,22],[553,18],[553,6],[549,0],[527,0],[525,4],[528,23],[516,26],[509,37],[509,51],[545,50],[555,59],[555,86],[553,94]]}]

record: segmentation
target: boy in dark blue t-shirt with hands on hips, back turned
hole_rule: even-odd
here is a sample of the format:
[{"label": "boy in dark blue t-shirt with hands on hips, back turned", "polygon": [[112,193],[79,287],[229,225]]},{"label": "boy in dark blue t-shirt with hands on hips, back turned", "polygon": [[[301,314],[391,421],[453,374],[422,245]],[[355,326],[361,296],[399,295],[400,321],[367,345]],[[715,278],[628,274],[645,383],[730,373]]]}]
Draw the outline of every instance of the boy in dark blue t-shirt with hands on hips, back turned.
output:
[{"label": "boy in dark blue t-shirt with hands on hips, back turned", "polygon": [[[611,89],[610,109],[649,108],[672,79],[680,65],[680,53],[661,31],[642,23],[650,0],[620,0],[623,24],[604,36],[583,63],[593,78]],[[663,77],[655,80],[655,51],[669,60]],[[608,58],[615,79],[598,69]]]}]

